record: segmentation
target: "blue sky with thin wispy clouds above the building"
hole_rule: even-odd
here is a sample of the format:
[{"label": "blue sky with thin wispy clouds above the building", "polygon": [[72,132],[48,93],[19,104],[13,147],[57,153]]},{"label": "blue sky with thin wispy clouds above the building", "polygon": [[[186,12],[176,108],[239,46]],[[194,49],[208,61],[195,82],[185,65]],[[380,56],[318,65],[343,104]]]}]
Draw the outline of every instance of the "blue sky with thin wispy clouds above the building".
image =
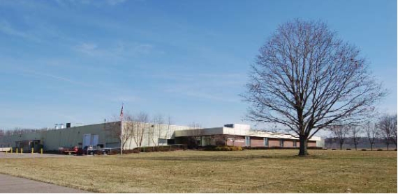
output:
[{"label": "blue sky with thin wispy clouds above the building", "polygon": [[[277,26],[321,19],[362,49],[397,112],[397,1],[0,1],[0,129],[171,115],[242,123],[249,65]],[[243,122],[245,123],[245,122]]]}]

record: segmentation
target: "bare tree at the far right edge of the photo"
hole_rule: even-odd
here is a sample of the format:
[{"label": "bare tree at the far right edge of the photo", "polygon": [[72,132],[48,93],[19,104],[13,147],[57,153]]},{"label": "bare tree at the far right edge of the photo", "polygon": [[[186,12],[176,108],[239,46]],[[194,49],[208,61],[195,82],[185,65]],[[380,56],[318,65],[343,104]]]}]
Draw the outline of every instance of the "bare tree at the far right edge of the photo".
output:
[{"label": "bare tree at the far right edge of the photo", "polygon": [[390,143],[394,143],[395,148],[397,148],[397,114],[383,115],[378,121],[378,128],[387,145],[387,149]]}]

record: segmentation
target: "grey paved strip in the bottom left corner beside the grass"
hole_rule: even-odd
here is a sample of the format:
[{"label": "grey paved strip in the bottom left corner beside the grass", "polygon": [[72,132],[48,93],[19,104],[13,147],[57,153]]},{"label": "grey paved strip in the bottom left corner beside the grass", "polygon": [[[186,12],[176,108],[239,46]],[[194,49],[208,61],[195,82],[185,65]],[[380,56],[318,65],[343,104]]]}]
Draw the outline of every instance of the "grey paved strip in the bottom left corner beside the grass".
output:
[{"label": "grey paved strip in the bottom left corner beside the grass", "polygon": [[0,174],[0,193],[88,193],[74,188],[46,184]]}]

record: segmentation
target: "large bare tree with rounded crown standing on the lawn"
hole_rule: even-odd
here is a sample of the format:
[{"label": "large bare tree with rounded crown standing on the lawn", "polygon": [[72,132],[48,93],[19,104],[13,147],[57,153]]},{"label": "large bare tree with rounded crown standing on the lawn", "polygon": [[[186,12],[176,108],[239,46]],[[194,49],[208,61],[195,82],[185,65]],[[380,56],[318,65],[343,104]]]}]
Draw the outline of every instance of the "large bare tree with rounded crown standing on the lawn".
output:
[{"label": "large bare tree with rounded crown standing on the lawn", "polygon": [[385,95],[360,50],[322,22],[296,19],[279,26],[251,70],[247,119],[293,131],[300,156],[320,129],[360,120]]}]

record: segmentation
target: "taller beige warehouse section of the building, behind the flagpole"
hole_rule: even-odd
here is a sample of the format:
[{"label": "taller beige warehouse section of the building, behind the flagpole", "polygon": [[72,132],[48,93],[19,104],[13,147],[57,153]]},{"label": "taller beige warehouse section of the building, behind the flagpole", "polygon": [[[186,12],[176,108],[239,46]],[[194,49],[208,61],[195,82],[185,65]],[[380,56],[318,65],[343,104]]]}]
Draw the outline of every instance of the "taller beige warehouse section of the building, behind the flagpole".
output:
[{"label": "taller beige warehouse section of the building, behind the flagpole", "polygon": [[[64,129],[50,129],[29,134],[0,137],[0,147],[17,147],[46,151],[60,147],[120,147],[121,122],[105,122]],[[124,149],[165,145],[170,143],[176,130],[191,129],[186,126],[123,122]]]}]

